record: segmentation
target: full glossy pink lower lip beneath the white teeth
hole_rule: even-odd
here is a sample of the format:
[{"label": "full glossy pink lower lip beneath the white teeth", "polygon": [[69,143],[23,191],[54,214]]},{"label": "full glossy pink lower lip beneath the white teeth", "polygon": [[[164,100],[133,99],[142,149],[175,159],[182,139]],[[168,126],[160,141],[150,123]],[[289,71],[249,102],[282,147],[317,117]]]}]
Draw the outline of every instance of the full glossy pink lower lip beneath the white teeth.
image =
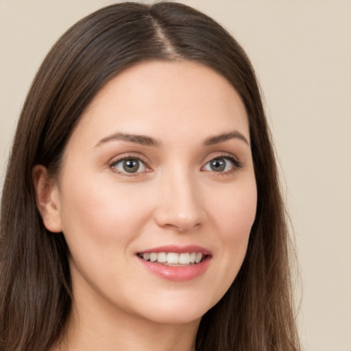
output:
[{"label": "full glossy pink lower lip beneath the white teeth", "polygon": [[154,263],[145,261],[138,257],[139,261],[156,276],[160,276],[166,280],[173,280],[175,282],[185,282],[192,280],[205,273],[210,263],[210,256],[206,256],[204,261],[189,266],[167,266],[161,263]]}]

